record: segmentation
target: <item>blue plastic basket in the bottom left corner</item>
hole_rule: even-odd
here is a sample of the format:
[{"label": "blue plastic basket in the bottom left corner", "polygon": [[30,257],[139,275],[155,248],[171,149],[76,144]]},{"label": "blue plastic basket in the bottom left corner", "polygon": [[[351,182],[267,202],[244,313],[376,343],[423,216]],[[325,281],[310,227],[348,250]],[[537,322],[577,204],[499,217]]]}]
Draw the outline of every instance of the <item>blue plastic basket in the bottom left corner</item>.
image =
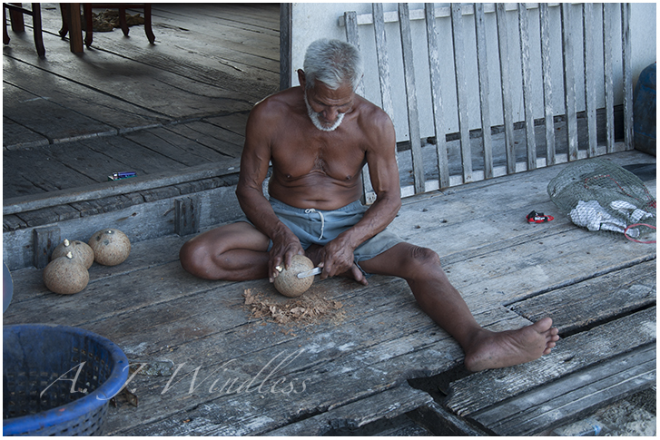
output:
[{"label": "blue plastic basket in the bottom left corner", "polygon": [[128,359],[81,328],[3,327],[3,435],[101,435]]}]

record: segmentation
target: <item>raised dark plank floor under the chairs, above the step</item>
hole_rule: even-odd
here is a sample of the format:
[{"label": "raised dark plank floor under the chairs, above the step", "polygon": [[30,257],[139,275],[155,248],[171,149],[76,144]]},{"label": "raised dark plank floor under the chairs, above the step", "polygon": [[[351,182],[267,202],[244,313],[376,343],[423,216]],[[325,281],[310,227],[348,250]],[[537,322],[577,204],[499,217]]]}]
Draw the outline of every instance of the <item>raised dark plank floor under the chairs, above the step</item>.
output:
[{"label": "raised dark plank floor under the chairs, above the step", "polygon": [[4,47],[5,200],[88,187],[113,171],[143,179],[235,165],[248,112],[279,88],[279,11],[153,5],[155,44],[138,25],[128,38],[94,33],[76,55],[57,34],[59,6],[42,5],[45,58],[29,31],[10,30]]}]

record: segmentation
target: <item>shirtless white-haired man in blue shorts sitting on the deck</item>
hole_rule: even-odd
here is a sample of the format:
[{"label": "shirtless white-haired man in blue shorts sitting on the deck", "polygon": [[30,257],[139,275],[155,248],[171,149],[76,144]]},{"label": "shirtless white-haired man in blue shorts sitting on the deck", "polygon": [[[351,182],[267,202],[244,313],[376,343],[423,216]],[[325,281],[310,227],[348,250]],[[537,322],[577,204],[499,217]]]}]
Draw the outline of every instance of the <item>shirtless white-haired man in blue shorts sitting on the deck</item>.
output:
[{"label": "shirtless white-haired man in blue shorts sitting on the deck", "polygon": [[[504,332],[481,328],[440,267],[438,254],[386,230],[401,206],[394,126],[355,94],[358,50],[338,40],[308,48],[300,86],[275,93],[251,111],[236,194],[249,221],[206,231],[185,243],[182,267],[204,279],[278,275],[295,254],[323,268],[320,279],[365,274],[405,279],[419,306],[465,351],[478,371],[528,362],[555,347],[552,319]],[[261,183],[269,162],[270,200]],[[362,166],[376,201],[360,203]]]}]

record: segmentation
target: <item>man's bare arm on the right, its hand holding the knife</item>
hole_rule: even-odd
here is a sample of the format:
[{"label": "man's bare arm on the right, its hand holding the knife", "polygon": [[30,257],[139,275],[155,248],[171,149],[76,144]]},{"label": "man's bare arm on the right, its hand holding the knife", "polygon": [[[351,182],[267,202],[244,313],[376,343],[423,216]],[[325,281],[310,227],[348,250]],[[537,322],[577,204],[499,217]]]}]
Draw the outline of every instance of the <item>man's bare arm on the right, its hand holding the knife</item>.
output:
[{"label": "man's bare arm on the right, its hand holding the knife", "polygon": [[376,201],[355,226],[342,232],[325,246],[324,253],[327,258],[324,259],[321,278],[332,277],[351,269],[353,251],[366,240],[385,230],[401,207],[394,126],[387,113],[381,110],[369,122],[373,125],[364,127],[363,130],[369,133],[366,157]]}]

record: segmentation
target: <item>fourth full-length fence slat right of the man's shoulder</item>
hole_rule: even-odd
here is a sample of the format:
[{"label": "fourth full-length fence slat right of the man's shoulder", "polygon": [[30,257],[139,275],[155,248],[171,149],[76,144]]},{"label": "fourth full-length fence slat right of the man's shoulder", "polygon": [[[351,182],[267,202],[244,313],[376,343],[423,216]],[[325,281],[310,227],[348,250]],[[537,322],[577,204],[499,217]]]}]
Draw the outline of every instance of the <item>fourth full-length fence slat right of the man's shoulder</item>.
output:
[{"label": "fourth full-length fence slat right of the man's shoulder", "polygon": [[493,177],[493,142],[490,133],[490,106],[488,104],[488,54],[486,51],[486,24],[484,5],[475,3],[475,32],[477,34],[477,70],[479,77],[479,107],[481,108],[481,141],[484,149],[484,179]]}]

